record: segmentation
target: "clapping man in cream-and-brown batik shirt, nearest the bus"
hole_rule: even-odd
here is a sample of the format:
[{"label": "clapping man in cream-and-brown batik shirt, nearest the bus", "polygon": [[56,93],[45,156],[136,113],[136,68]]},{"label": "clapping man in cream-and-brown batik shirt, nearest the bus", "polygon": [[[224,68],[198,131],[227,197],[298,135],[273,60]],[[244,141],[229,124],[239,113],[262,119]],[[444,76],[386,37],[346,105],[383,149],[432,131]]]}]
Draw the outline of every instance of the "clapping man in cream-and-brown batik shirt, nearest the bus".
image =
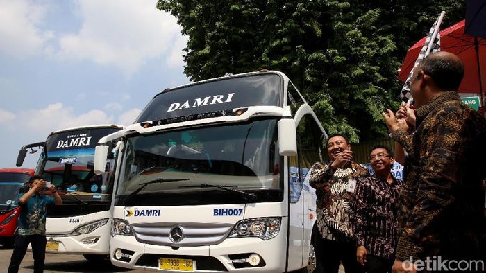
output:
[{"label": "clapping man in cream-and-brown batik shirt, nearest the bus", "polygon": [[316,189],[316,256],[326,273],[337,273],[340,261],[347,273],[363,272],[356,261],[356,243],[351,229],[351,201],[358,178],[369,175],[361,164],[353,162],[353,152],[346,136],[332,134],[327,141],[327,164],[315,164],[310,170],[310,186]]}]

